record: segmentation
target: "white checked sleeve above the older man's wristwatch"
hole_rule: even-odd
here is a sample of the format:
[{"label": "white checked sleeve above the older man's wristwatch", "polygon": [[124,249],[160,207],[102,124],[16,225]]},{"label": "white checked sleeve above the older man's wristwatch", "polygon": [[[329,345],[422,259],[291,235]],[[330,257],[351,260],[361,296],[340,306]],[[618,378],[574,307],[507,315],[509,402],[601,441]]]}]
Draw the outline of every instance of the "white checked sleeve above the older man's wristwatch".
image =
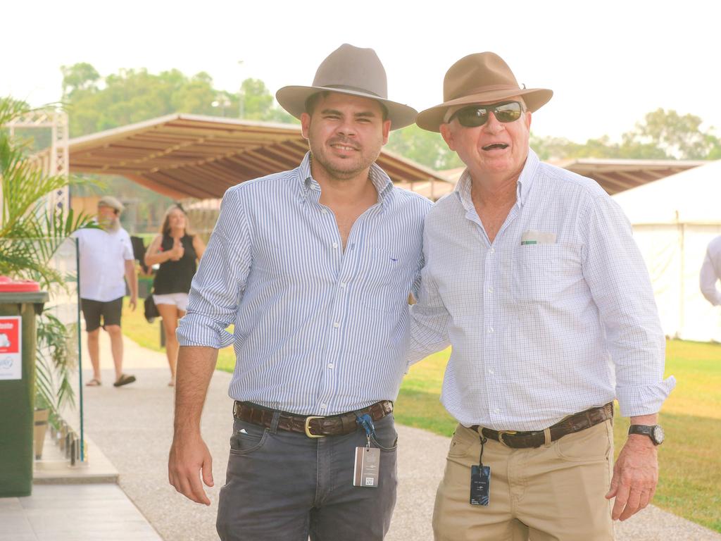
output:
[{"label": "white checked sleeve above the older man's wristwatch", "polygon": [[621,414],[657,413],[676,379],[663,379],[665,337],[646,265],[615,201],[598,197],[587,210],[581,224],[583,275],[616,367]]}]

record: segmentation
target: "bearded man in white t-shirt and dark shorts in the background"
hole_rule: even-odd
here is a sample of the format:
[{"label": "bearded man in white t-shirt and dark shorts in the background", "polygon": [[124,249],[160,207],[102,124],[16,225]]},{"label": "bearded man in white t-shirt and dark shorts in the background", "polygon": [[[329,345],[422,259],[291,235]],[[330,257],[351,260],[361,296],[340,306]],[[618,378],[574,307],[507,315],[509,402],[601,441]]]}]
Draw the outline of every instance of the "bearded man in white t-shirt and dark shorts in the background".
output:
[{"label": "bearded man in white t-shirt and dark shorts in the background", "polygon": [[78,239],[80,253],[80,300],[88,333],[88,353],[93,377],[89,387],[102,384],[100,378],[100,317],[102,328],[110,335],[112,360],[115,364],[115,387],[135,381],[135,376],[123,374],[123,333],[120,315],[123,311],[125,281],[131,290],[131,309],[138,302],[138,276],[133,246],[128,232],[120,226],[123,204],[106,195],[97,203],[99,229],[80,229],[73,235]]}]

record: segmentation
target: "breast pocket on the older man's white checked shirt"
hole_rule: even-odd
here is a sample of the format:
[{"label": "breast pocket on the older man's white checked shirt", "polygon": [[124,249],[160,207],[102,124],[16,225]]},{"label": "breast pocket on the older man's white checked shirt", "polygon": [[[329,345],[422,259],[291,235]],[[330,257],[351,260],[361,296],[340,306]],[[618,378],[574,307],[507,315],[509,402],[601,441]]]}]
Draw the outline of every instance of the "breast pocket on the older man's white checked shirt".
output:
[{"label": "breast pocket on the older man's white checked shirt", "polygon": [[554,303],[583,279],[580,246],[521,245],[513,251],[511,291],[520,303]]}]

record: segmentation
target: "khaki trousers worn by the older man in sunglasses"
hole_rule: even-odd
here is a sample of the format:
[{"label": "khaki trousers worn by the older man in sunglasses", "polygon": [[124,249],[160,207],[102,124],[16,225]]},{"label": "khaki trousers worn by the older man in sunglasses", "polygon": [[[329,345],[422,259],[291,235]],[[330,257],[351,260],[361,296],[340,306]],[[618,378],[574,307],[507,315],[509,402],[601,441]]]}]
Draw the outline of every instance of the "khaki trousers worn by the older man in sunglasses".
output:
[{"label": "khaki trousers worn by the older man in sunglasses", "polygon": [[459,425],[433,510],[436,541],[608,541],[614,539],[609,491],[611,421],[535,449],[510,449],[491,439],[490,504],[469,503],[471,467],[481,452],[476,431]]}]

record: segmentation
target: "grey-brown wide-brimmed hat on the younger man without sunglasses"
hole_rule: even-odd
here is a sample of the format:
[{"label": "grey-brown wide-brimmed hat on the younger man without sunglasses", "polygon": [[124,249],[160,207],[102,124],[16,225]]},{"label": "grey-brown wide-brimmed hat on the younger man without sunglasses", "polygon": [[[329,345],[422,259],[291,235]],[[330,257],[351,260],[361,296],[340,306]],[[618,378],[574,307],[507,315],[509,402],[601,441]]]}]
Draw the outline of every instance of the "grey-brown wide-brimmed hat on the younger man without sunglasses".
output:
[{"label": "grey-brown wide-brimmed hat on the younger man without sunglasses", "polygon": [[306,100],[317,92],[338,92],[368,97],[388,110],[391,129],[409,126],[417,110],[388,100],[386,70],[373,49],[361,49],[344,43],[321,63],[311,87],[283,87],[275,94],[278,103],[296,118],[306,113]]}]

